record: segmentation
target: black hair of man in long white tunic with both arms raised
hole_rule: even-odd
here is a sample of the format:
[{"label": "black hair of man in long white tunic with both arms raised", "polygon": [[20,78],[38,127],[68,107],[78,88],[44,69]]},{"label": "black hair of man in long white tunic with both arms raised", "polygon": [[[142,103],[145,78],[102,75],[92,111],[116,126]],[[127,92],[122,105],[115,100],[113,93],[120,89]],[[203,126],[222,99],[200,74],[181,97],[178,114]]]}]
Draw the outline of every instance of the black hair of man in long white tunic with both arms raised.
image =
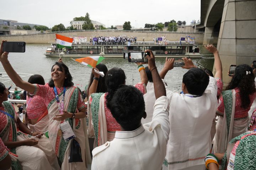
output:
[{"label": "black hair of man in long white tunic with both arms raised", "polygon": [[183,75],[182,83],[191,95],[202,95],[209,84],[209,76],[200,68],[191,68]]}]

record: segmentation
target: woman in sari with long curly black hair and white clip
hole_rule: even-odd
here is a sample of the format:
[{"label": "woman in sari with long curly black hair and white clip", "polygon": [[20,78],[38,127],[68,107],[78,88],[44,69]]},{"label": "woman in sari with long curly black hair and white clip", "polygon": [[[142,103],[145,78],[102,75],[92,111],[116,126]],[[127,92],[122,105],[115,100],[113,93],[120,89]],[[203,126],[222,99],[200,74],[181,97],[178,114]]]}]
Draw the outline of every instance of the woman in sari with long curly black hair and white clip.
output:
[{"label": "woman in sari with long curly black hair and white clip", "polygon": [[226,151],[230,140],[246,132],[248,111],[256,97],[254,74],[247,64],[236,67],[226,91],[222,92],[216,114],[219,119],[214,137],[214,153]]}]

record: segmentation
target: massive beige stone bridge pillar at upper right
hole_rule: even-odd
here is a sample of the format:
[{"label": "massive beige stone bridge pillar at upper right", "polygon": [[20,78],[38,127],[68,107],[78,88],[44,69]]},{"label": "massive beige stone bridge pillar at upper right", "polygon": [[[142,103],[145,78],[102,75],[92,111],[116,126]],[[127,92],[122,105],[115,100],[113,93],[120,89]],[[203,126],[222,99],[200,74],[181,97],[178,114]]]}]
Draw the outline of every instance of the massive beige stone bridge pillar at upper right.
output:
[{"label": "massive beige stone bridge pillar at upper right", "polygon": [[217,49],[223,63],[224,84],[231,64],[256,60],[256,0],[225,0]]}]

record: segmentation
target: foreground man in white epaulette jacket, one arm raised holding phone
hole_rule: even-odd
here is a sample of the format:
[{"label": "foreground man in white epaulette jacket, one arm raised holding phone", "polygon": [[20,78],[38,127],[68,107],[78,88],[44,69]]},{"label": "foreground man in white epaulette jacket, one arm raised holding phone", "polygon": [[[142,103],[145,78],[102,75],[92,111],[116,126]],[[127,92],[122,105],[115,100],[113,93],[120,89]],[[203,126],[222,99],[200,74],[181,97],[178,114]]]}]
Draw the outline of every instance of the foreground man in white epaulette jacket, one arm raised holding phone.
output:
[{"label": "foreground man in white epaulette jacket, one arm raised holding phone", "polygon": [[169,100],[158,74],[154,55],[150,50],[146,52],[150,52],[150,56],[147,56],[148,66],[155,83],[153,120],[142,125],[141,119],[146,117],[145,103],[142,92],[135,87],[123,83],[115,92],[109,94],[107,107],[110,108],[114,120],[121,125],[121,130],[116,132],[113,141],[106,142],[92,151],[93,170],[162,168],[170,132]]}]

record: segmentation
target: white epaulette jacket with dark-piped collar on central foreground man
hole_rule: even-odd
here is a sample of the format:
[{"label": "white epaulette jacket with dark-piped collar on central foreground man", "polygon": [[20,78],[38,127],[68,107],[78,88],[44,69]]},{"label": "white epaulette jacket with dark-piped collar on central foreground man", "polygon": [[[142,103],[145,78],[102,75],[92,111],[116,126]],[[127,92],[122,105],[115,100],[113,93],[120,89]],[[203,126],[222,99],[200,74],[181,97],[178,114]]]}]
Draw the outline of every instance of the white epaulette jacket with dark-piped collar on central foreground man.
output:
[{"label": "white epaulette jacket with dark-piped collar on central foreground man", "polygon": [[159,97],[153,120],[134,131],[116,131],[113,141],[92,151],[92,170],[160,170],[170,132],[169,100]]}]

